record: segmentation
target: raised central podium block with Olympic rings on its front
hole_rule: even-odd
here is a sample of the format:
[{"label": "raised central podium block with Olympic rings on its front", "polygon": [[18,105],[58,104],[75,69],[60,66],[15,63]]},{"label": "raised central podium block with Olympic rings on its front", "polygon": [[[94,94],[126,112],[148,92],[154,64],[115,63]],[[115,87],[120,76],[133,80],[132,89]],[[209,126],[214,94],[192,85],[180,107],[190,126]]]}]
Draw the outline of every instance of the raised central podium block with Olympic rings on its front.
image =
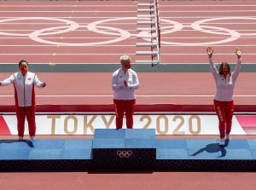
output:
[{"label": "raised central podium block with Olympic rings on its front", "polygon": [[152,168],[156,158],[155,130],[95,130],[92,158],[96,170]]}]

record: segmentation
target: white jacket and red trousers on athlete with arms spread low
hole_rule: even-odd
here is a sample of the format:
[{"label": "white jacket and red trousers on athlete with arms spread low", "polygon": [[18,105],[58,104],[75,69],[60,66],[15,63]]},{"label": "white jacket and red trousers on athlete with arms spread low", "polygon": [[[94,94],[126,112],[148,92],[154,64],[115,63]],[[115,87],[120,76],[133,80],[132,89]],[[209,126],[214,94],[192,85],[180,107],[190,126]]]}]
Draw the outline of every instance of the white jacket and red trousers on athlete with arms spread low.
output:
[{"label": "white jacket and red trousers on athlete with arms spread low", "polygon": [[25,119],[28,123],[30,136],[36,135],[36,98],[34,86],[43,88],[37,75],[32,72],[26,72],[23,76],[20,72],[16,72],[2,82],[2,86],[7,86],[10,83],[15,87],[15,111],[17,117],[18,135],[24,136]]}]

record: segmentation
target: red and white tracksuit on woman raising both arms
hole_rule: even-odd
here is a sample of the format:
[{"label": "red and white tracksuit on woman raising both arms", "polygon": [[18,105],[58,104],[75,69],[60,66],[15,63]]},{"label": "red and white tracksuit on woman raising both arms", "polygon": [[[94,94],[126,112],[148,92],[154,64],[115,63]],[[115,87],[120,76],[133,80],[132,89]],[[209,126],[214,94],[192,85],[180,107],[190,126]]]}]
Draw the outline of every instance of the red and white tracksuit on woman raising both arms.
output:
[{"label": "red and white tracksuit on woman raising both arms", "polygon": [[216,94],[214,97],[214,109],[218,116],[218,130],[220,138],[225,137],[225,133],[230,134],[232,127],[232,118],[234,112],[233,94],[236,79],[241,70],[241,59],[237,60],[236,69],[231,77],[224,78],[220,75],[214,65],[212,58],[209,59],[212,76],[216,83]]}]

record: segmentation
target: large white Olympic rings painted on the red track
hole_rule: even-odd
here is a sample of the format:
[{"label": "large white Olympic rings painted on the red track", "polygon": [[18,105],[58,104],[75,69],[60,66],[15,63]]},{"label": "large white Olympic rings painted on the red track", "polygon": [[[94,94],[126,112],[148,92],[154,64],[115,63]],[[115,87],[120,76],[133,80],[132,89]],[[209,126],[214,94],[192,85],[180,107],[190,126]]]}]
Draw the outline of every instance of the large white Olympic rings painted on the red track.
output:
[{"label": "large white Olympic rings painted on the red track", "polygon": [[[72,21],[72,20],[63,20],[63,19],[57,19],[57,18],[49,18],[49,17],[21,17],[21,18],[12,18],[12,19],[5,19],[0,20],[0,23],[8,22],[8,21],[14,21],[14,20],[55,20],[60,21],[66,24],[67,26],[55,26],[55,27],[49,27],[44,28],[40,30],[35,30],[34,32],[31,32],[29,34],[24,33],[10,33],[10,32],[0,32],[0,35],[8,35],[8,36],[28,36],[32,40],[37,41],[39,43],[49,43],[49,44],[55,44],[55,45],[70,45],[70,46],[86,46],[86,45],[100,45],[100,44],[107,44],[107,43],[116,43],[119,41],[123,41],[127,39],[128,37],[137,36],[137,34],[131,34],[128,31],[125,31],[123,29],[110,27],[110,26],[99,26],[102,23],[115,21],[115,20],[137,20],[137,17],[125,17],[125,18],[113,18],[113,19],[106,19],[106,20],[97,20],[95,22],[92,22],[88,24],[87,26],[81,26],[79,23]],[[148,20],[147,18],[141,18],[140,20]],[[179,32],[182,31],[183,27],[191,27],[195,31],[198,32],[206,32],[216,35],[224,35],[224,36],[230,36],[224,40],[214,41],[214,42],[205,42],[205,43],[174,43],[174,42],[166,42],[162,41],[162,44],[172,44],[172,45],[208,45],[208,44],[218,44],[218,43],[228,43],[231,41],[234,41],[238,39],[241,36],[255,36],[256,33],[240,33],[236,32],[236,30],[230,30],[223,27],[217,27],[217,26],[209,26],[208,23],[207,26],[203,26],[203,24],[213,21],[213,20],[256,20],[256,18],[252,17],[218,17],[218,18],[212,18],[212,19],[206,19],[206,20],[198,20],[194,23],[191,23],[190,25],[184,26],[181,23],[178,23],[174,20],[166,20],[161,19],[161,21],[166,22],[168,24],[171,24],[172,26],[163,26],[161,29],[166,29],[165,31],[161,32],[161,35],[165,35],[172,32]],[[60,42],[53,42],[49,40],[45,40],[41,38],[40,36],[47,36],[47,35],[55,35],[60,34],[64,32],[73,32],[77,30],[79,27],[86,27],[90,32],[97,32],[105,35],[112,35],[112,36],[119,36],[117,38],[114,38],[112,40],[102,41],[102,42],[96,42],[96,43],[60,43]],[[100,30],[102,29],[102,30]],[[170,29],[170,30],[169,30]],[[210,30],[207,30],[210,29]],[[111,31],[111,32],[110,32]],[[148,32],[140,32],[140,34],[148,34]],[[163,39],[163,38],[162,38]],[[145,38],[144,40],[150,41],[150,39]]]}]

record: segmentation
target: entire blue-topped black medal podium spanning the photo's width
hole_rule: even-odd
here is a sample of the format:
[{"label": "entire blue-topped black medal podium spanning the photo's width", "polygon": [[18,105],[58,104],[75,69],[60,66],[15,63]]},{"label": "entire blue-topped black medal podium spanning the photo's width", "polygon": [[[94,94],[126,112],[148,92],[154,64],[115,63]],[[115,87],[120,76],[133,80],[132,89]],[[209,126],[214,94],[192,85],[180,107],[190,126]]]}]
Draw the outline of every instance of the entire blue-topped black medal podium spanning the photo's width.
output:
[{"label": "entire blue-topped black medal podium spanning the photo's width", "polygon": [[256,170],[256,140],[218,142],[160,139],[154,129],[97,129],[93,139],[0,140],[0,170]]}]

